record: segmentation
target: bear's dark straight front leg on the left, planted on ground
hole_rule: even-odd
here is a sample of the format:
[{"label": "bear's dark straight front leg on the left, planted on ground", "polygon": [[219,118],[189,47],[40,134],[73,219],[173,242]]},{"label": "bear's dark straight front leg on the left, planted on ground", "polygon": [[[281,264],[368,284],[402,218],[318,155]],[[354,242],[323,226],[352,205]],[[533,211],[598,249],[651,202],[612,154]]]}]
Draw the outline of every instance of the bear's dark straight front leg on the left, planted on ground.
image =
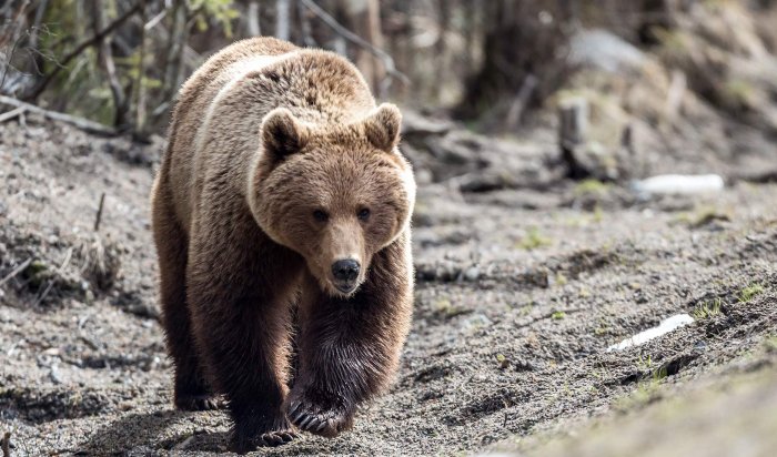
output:
[{"label": "bear's dark straight front leg on the left, planted on ground", "polygon": [[279,248],[259,235],[230,240],[210,234],[191,246],[186,292],[193,333],[209,379],[226,396],[234,422],[232,449],[239,453],[294,438],[282,405],[289,303],[297,273],[287,261],[293,253]]}]

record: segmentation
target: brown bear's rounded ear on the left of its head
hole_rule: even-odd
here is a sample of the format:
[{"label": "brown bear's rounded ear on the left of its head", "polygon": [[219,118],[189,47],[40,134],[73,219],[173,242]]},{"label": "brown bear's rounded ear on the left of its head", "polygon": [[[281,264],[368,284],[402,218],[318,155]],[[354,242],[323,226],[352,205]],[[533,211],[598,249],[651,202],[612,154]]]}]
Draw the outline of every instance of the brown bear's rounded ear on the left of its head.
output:
[{"label": "brown bear's rounded ear on the left of its head", "polygon": [[273,161],[282,161],[299,152],[307,142],[307,128],[291,111],[276,108],[262,120],[262,145]]}]

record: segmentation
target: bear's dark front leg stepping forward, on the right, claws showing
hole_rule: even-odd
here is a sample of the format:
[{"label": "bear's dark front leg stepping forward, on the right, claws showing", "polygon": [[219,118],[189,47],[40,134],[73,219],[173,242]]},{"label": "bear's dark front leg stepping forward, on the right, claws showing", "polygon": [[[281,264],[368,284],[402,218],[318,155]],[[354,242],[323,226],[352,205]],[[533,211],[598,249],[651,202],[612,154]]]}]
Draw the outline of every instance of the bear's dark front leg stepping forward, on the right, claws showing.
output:
[{"label": "bear's dark front leg stepping forward, on the right, claws showing", "polygon": [[351,297],[331,297],[307,275],[300,304],[300,373],[289,419],[301,430],[334,437],[353,425],[356,407],[386,388],[398,365],[412,316],[410,240],[375,254]]}]

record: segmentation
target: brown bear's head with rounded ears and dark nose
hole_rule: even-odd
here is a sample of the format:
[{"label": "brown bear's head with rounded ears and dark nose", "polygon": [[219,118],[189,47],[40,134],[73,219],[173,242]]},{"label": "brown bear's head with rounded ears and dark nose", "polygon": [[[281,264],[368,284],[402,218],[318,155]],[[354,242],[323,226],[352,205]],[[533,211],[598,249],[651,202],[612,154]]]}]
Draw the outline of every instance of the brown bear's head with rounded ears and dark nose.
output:
[{"label": "brown bear's head with rounded ears and dark nose", "polygon": [[415,182],[398,152],[402,115],[384,103],[365,119],[315,125],[268,113],[249,181],[261,228],[301,254],[322,290],[347,297],[373,255],[410,224]]}]

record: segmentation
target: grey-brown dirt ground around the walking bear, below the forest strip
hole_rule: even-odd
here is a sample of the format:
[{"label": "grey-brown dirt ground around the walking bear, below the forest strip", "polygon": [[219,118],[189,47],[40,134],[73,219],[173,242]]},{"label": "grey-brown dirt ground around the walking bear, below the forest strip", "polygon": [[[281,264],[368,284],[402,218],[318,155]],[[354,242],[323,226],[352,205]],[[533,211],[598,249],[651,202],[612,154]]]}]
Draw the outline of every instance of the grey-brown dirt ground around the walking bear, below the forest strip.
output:
[{"label": "grey-brown dirt ground around the walking bear, below the forest strip", "polygon": [[[161,143],[0,125],[0,431],[14,457],[226,447],[224,413],[171,407],[148,210]],[[723,173],[725,191],[642,199],[547,172],[542,135],[498,151],[531,185],[461,192],[418,170],[415,315],[392,390],[351,433],[258,455],[521,451],[710,378],[774,370],[777,184],[678,160]],[[607,351],[684,313],[695,322]]]}]

